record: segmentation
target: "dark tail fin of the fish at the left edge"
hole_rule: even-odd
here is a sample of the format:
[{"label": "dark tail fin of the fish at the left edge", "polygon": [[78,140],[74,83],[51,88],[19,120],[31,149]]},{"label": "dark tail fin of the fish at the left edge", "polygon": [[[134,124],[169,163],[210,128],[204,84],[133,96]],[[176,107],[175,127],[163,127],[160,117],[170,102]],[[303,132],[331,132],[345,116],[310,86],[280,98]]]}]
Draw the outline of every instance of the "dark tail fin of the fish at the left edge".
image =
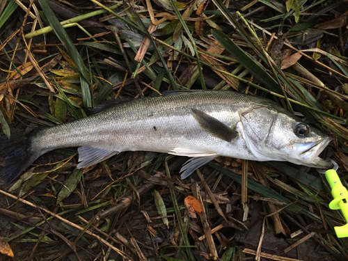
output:
[{"label": "dark tail fin of the fish at the left edge", "polygon": [[0,184],[8,184],[40,156],[31,149],[30,137],[11,134],[0,137]]}]

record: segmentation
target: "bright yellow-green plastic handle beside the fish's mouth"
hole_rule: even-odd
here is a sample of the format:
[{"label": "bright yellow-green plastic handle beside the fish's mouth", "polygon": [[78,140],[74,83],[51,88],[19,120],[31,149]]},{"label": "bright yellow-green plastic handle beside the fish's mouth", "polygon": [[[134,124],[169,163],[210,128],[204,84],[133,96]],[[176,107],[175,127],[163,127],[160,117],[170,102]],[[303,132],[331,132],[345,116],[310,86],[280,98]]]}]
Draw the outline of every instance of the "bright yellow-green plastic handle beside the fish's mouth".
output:
[{"label": "bright yellow-green plastic handle beside the fish's mouth", "polygon": [[331,209],[341,209],[347,224],[340,227],[335,227],[337,237],[348,237],[348,191],[342,185],[340,177],[338,177],[336,171],[330,169],[325,172],[326,180],[329,182],[331,187],[331,193],[333,200],[329,204]]}]

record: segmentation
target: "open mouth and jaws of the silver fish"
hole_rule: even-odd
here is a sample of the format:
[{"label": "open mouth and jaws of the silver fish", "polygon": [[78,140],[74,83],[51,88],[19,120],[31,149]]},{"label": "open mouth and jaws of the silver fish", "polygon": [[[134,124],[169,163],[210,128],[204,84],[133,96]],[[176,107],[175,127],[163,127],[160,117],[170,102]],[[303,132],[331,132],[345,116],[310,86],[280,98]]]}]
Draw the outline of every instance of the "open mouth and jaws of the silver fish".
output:
[{"label": "open mouth and jaws of the silver fish", "polygon": [[319,157],[319,154],[326,148],[331,142],[331,138],[328,136],[319,142],[309,143],[297,143],[299,157],[302,160],[302,164],[314,168],[333,168],[331,161],[327,161]]}]

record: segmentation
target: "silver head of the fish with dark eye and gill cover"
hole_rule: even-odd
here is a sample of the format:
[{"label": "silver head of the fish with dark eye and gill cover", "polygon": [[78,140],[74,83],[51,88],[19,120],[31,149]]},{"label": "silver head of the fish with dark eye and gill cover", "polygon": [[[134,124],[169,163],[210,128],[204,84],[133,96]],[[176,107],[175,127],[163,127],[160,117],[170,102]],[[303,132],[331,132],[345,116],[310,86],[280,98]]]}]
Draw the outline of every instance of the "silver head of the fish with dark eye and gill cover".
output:
[{"label": "silver head of the fish with dark eye and gill cover", "polygon": [[315,168],[332,168],[319,157],[331,138],[285,110],[259,107],[240,113],[242,137],[260,161],[290,161]]}]

